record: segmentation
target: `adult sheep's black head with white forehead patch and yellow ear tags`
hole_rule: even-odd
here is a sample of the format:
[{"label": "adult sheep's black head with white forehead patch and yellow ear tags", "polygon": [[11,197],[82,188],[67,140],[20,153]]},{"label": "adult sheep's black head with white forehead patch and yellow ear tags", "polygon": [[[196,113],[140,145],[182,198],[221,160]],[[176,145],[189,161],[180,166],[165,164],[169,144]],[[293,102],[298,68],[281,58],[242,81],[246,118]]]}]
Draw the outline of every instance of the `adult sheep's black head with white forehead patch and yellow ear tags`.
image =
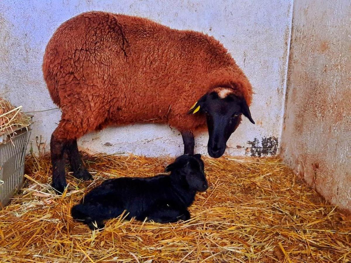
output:
[{"label": "adult sheep's black head with white forehead patch and yellow ear tags", "polygon": [[224,154],[230,135],[240,124],[241,114],[255,123],[244,97],[234,95],[230,88],[217,88],[202,96],[189,114],[197,112],[206,114],[209,136],[207,150],[214,158]]}]

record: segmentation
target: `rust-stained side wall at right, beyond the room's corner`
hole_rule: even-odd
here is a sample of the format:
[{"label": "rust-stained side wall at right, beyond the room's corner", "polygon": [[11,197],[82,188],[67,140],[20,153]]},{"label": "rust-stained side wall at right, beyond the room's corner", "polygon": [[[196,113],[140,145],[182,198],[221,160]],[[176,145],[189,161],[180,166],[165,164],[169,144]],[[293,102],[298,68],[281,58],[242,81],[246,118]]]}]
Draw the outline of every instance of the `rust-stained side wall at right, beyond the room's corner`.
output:
[{"label": "rust-stained side wall at right, beyond the room's corner", "polygon": [[351,211],[351,3],[294,0],[284,161]]}]

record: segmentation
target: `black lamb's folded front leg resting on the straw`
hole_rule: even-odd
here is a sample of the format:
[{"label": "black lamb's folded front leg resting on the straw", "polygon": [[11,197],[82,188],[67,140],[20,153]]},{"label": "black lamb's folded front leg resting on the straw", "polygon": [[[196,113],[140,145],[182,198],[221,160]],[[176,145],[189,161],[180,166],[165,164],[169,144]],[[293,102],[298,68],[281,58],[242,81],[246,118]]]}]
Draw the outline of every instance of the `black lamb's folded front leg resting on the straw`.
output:
[{"label": "black lamb's folded front leg resting on the straw", "polygon": [[151,209],[145,211],[142,218],[137,218],[138,220],[145,220],[147,217],[148,220],[152,220],[157,223],[174,223],[179,220],[188,220],[190,219],[190,213],[186,208],[179,208],[171,204],[161,204],[155,205]]}]

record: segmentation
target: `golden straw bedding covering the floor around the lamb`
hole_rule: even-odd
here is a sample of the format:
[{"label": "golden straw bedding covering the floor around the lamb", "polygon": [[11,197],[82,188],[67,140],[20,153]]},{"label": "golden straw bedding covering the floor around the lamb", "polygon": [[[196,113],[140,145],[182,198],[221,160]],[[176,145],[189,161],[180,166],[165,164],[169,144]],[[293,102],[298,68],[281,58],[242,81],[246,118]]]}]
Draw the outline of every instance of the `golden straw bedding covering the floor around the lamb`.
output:
[{"label": "golden straw bedding covering the floor around the lamb", "polygon": [[91,232],[69,210],[118,176],[161,173],[169,158],[84,155],[93,182],[49,188],[48,156],[28,157],[26,186],[0,211],[1,262],[349,262],[351,221],[277,158],[204,158],[209,188],[177,224],[107,221]]}]

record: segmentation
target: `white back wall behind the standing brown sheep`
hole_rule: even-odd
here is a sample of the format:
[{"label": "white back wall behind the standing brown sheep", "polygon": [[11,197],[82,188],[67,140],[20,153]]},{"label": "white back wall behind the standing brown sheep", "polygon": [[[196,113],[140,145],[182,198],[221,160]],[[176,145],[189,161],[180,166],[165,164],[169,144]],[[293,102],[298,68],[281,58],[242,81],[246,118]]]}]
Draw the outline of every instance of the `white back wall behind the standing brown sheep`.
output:
[{"label": "white back wall behind the standing brown sheep", "polygon": [[[255,95],[251,113],[228,142],[226,154],[250,154],[248,141],[280,139],[282,129],[291,0],[0,1],[0,96],[26,112],[55,108],[42,78],[46,44],[55,29],[81,12],[102,10],[144,16],[177,29],[193,29],[219,39],[249,77]],[[32,139],[49,144],[59,110],[34,113]],[[196,151],[207,153],[207,134],[196,138]],[[108,128],[80,139],[80,146],[106,153],[179,155],[180,134],[166,125]],[[253,150],[254,153],[254,150]]]}]

